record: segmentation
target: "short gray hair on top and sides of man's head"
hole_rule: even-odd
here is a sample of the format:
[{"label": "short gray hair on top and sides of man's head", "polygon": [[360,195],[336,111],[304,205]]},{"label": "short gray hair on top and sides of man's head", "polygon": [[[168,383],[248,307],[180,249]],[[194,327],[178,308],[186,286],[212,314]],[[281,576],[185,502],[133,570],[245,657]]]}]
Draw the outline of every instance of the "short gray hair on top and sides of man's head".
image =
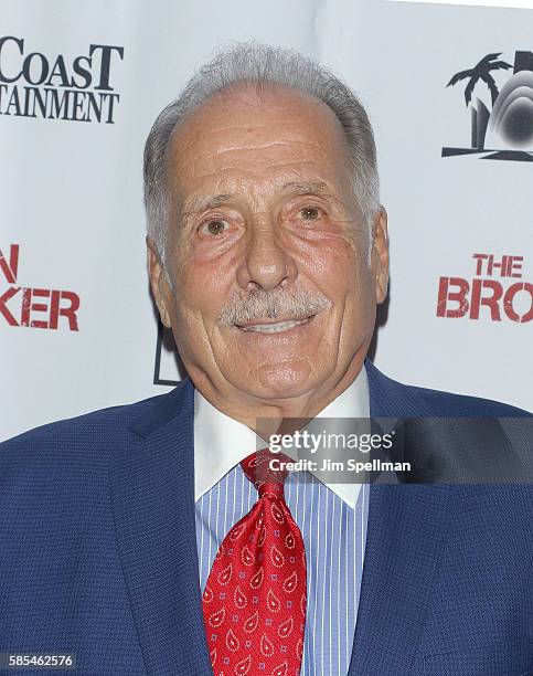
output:
[{"label": "short gray hair on top and sides of man's head", "polygon": [[[265,44],[237,43],[203,65],[159,114],[145,147],[145,204],[148,235],[166,266],[168,197],[166,154],[174,128],[212,96],[233,85],[256,83],[299,89],[323,102],[339,119],[353,170],[353,190],[372,232],[380,210],[374,135],[366,112],[333,73],[298,52]],[[167,271],[166,271],[167,272]]]}]

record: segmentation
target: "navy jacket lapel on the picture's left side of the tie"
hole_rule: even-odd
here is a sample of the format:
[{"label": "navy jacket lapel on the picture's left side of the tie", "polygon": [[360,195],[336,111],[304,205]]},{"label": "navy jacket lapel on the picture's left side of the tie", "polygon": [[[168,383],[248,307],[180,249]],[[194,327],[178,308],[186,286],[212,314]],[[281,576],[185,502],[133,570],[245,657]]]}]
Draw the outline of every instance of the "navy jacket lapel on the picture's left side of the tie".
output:
[{"label": "navy jacket lapel on the picture's left side of the tie", "polygon": [[212,675],[194,517],[194,389],[158,398],[110,465],[119,556],[148,674]]}]

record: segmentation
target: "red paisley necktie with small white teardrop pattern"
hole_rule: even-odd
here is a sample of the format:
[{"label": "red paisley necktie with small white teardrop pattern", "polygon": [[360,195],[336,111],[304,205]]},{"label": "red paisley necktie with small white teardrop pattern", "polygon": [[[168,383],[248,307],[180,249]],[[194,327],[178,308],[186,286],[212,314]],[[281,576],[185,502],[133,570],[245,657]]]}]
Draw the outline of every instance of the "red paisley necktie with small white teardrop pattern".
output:
[{"label": "red paisley necktie with small white teardrop pattern", "polygon": [[306,551],[284,495],[286,469],[267,448],[241,466],[258,490],[224,538],[203,593],[215,676],[298,676],[306,624]]}]

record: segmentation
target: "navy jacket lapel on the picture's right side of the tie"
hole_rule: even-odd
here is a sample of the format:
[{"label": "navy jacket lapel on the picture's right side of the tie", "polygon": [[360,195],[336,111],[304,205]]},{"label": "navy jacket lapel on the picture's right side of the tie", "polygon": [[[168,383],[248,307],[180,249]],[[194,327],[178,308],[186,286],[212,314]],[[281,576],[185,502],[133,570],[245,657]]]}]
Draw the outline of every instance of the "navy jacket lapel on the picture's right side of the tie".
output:
[{"label": "navy jacket lapel on the picture's right side of the tie", "polygon": [[[366,362],[371,416],[430,415],[414,390]],[[434,413],[435,415],[435,413]],[[449,486],[372,485],[349,676],[407,674],[446,542]]]}]

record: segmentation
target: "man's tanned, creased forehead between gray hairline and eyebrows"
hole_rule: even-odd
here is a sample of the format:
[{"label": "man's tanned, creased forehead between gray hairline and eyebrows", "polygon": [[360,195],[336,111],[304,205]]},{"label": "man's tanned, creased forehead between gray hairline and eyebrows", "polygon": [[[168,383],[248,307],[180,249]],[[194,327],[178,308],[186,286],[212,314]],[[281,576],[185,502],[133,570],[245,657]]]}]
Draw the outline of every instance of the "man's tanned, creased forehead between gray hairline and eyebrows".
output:
[{"label": "man's tanned, creased forehead between gray hairline and eyebrows", "polygon": [[[344,188],[350,172],[345,138],[326,104],[286,87],[218,97],[222,107],[213,97],[169,142],[167,180],[184,211],[205,208],[202,201],[220,205],[235,193],[260,198]],[[264,105],[248,105],[250,99]],[[310,101],[321,106],[318,113]]]}]

